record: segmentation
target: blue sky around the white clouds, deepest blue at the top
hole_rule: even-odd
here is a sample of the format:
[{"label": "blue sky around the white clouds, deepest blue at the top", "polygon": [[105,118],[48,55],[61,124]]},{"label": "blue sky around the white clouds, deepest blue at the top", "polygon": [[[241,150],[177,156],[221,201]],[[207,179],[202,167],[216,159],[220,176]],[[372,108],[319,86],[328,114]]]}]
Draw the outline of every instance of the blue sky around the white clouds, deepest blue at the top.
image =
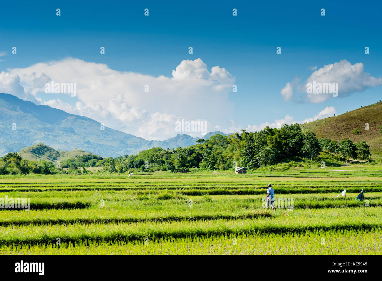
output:
[{"label": "blue sky around the white clouds, deepest blue at the top", "polygon": [[[56,16],[56,8],[61,9],[61,16]],[[149,9],[149,16],[144,16],[145,8]],[[237,9],[237,16],[232,15],[233,8]],[[325,9],[325,16],[320,15],[321,8]],[[176,100],[177,104],[173,104],[173,107],[184,108],[185,114],[188,112],[182,116],[182,110],[171,112],[168,105],[157,101],[156,108],[144,108],[141,102],[128,104],[126,100],[130,99],[125,97],[129,110],[138,108],[146,112],[134,115],[135,119],[129,117],[129,125],[123,119],[116,125],[113,118],[118,119],[120,111],[113,112],[110,108],[108,110],[111,113],[103,113],[101,119],[107,122],[107,126],[113,128],[115,125],[115,129],[148,139],[165,139],[171,135],[171,130],[166,134],[160,134],[159,131],[163,132],[160,130],[161,126],[165,126],[163,120],[170,120],[172,124],[172,119],[162,118],[159,120],[161,125],[155,125],[155,120],[150,117],[155,112],[174,115],[176,118],[207,120],[211,124],[209,131],[215,131],[215,128],[230,131],[246,128],[249,124],[260,126],[262,123],[274,123],[275,120],[283,120],[287,114],[293,116],[294,121],[303,121],[314,118],[326,107],[334,107],[335,111],[327,112],[336,112],[338,115],[381,99],[382,86],[378,80],[382,76],[381,8],[381,2],[359,1],[2,3],[0,54],[3,55],[0,57],[0,71],[17,73],[21,78],[21,86],[39,102],[65,110],[68,107],[49,103],[49,100],[60,99],[73,107],[78,100],[62,94],[48,97],[41,90],[33,90],[31,85],[28,86],[28,79],[24,81],[22,77],[29,75],[26,74],[28,71],[12,69],[73,58],[106,64],[115,71],[172,78],[172,71],[181,61],[200,58],[209,72],[212,67],[219,66],[235,77],[232,84],[237,85],[237,92],[226,90],[221,100],[214,96],[222,104],[217,102],[216,108],[212,105],[211,108],[221,108],[220,114],[206,114],[208,103],[213,103],[212,98],[204,101],[196,96],[195,99],[200,99],[199,103],[207,103],[200,107],[197,102],[189,104],[188,100],[179,104],[181,100],[178,98],[163,96],[160,99],[165,103]],[[17,47],[17,54],[12,54],[13,46]],[[104,55],[100,54],[100,46],[105,47]],[[189,46],[193,47],[193,54],[188,53]],[[281,54],[276,53],[278,46],[282,48]],[[369,47],[369,54],[364,52],[366,46]],[[362,73],[368,73],[376,80],[359,87],[355,85],[351,89],[351,83],[362,84],[367,74],[345,78],[344,83],[351,83],[340,85],[338,97],[322,102],[307,100],[301,85],[313,73],[310,67],[317,66],[316,69],[320,69],[341,60],[348,61],[350,65],[362,63]],[[45,73],[43,67],[36,69]],[[58,77],[58,74],[53,73],[47,75],[50,78],[54,75]],[[293,98],[285,101],[280,90],[288,82],[296,84],[296,87],[293,89]],[[341,93],[341,87],[346,88],[345,94]],[[145,100],[147,95],[142,93],[141,98]],[[84,103],[82,110],[72,108],[68,111],[96,119],[94,112],[84,110],[85,107],[93,107],[94,111],[95,105],[86,98],[81,102]],[[147,102],[150,102],[150,98]],[[194,109],[187,111],[188,106]],[[150,120],[150,126],[158,126],[158,130],[155,132],[153,128],[146,128],[152,132],[145,134],[143,124],[149,126]]]}]

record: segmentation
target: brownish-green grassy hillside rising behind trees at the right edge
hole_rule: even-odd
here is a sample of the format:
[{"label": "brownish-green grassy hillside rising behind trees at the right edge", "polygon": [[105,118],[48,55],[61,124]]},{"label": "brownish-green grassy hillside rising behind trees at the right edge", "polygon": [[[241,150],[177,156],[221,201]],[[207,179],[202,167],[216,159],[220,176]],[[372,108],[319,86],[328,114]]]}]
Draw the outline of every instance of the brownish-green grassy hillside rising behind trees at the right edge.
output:
[{"label": "brownish-green grassy hillside rising behind trees at the right edge", "polygon": [[[365,123],[369,130],[365,130]],[[382,102],[367,105],[342,115],[301,124],[301,128],[312,129],[317,138],[332,140],[351,139],[353,142],[366,141],[374,157],[382,157]],[[354,134],[353,130],[359,131]]]}]

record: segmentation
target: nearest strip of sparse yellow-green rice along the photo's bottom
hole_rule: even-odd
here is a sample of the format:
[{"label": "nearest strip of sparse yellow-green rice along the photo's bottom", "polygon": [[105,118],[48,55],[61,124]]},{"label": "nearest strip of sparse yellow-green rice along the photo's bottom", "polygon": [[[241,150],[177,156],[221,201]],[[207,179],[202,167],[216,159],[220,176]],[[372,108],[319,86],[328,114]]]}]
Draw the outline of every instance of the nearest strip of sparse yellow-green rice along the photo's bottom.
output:
[{"label": "nearest strip of sparse yellow-green rice along the photo's bottom", "polygon": [[239,234],[237,236],[163,237],[134,242],[81,241],[11,245],[1,254],[126,255],[126,254],[382,254],[380,229],[330,230],[298,234]]}]

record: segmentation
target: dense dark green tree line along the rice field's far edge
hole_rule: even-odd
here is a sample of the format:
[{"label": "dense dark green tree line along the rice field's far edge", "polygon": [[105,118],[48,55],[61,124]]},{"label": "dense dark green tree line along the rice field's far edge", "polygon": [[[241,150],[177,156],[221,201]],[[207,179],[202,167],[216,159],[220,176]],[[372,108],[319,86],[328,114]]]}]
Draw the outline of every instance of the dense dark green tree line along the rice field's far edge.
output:
[{"label": "dense dark green tree line along the rice field's far edge", "polygon": [[[317,139],[314,132],[302,131],[298,123],[283,124],[259,132],[236,132],[230,136],[216,134],[199,139],[195,145],[176,149],[154,147],[138,155],[116,158],[83,155],[68,159],[60,168],[47,161],[23,160],[17,153],[8,153],[0,159],[0,174],[11,173],[87,173],[86,167],[100,166],[103,173],[131,173],[132,171],[189,171],[229,170],[234,166],[257,169],[296,159],[320,161],[322,151],[348,163],[349,159],[369,159],[370,146],[366,142],[353,143],[344,139],[338,144],[330,139]],[[99,159],[102,158],[102,159]],[[83,167],[82,171],[78,167]],[[70,168],[63,170],[62,168]]]}]

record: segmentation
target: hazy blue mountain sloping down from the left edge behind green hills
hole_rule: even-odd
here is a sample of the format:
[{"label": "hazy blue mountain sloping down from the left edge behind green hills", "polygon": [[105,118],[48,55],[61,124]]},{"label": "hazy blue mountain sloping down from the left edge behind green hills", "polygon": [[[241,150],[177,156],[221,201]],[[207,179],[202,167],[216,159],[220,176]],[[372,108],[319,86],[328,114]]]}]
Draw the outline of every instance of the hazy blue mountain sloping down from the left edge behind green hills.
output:
[{"label": "hazy blue mountain sloping down from the left edge behind green hills", "polygon": [[[216,133],[221,132],[202,138]],[[100,123],[90,118],[0,93],[0,156],[42,143],[56,150],[81,149],[102,157],[117,157],[152,147],[186,147],[198,139],[178,134],[163,141],[146,140],[107,127],[102,131]]]}]

